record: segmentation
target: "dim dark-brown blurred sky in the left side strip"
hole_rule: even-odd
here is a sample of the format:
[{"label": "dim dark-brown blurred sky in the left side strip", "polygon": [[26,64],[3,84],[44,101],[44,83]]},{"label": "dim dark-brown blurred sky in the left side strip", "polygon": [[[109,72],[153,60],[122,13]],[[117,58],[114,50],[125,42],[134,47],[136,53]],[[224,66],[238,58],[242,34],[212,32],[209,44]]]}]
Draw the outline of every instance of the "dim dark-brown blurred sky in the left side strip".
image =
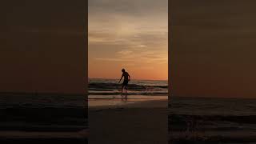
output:
[{"label": "dim dark-brown blurred sky in the left side strip", "polygon": [[84,0],[3,1],[0,92],[83,94],[85,10]]}]

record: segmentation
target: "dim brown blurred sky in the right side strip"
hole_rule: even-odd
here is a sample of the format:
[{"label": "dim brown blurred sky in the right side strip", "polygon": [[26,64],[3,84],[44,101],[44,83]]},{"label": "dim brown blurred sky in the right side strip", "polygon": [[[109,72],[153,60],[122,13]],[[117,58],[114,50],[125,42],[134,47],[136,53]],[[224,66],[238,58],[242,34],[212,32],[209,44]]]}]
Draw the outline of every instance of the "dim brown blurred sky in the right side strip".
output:
[{"label": "dim brown blurred sky in the right side strip", "polygon": [[256,1],[170,1],[174,95],[256,98]]}]

